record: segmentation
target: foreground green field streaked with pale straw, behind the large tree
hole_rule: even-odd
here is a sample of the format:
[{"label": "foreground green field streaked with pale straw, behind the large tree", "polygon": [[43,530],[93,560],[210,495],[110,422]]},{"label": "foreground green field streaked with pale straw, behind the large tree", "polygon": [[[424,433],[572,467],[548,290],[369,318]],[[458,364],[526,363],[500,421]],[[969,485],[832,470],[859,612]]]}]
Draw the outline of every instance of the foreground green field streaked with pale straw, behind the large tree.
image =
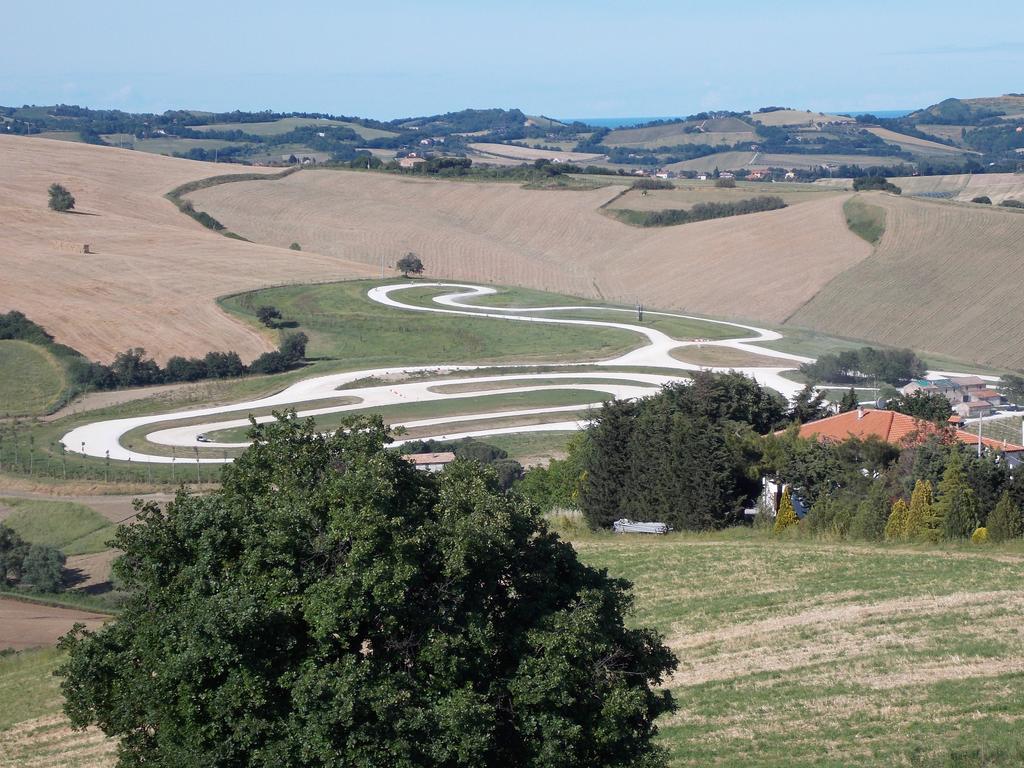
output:
[{"label": "foreground green field streaked with pale straw, behind the large tree", "polygon": [[[633,621],[680,659],[679,710],[658,735],[675,767],[1024,762],[1020,546],[562,531],[586,562],[634,583]],[[0,657],[0,755],[80,737],[59,729],[58,664],[53,650]],[[89,759],[41,764],[113,765]]]}]

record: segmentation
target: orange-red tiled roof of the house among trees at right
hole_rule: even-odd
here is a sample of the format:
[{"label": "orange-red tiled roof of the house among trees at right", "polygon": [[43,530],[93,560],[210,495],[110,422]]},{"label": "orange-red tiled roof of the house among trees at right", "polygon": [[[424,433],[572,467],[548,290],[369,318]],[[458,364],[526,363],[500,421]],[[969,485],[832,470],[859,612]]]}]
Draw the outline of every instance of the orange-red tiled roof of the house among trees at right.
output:
[{"label": "orange-red tiled roof of the house among trees at right", "polygon": [[[802,424],[799,434],[801,437],[816,437],[820,441],[842,442],[851,437],[860,439],[878,437],[886,442],[899,444],[906,442],[907,438],[938,434],[939,431],[939,427],[935,424],[914,419],[906,414],[865,408]],[[978,444],[978,435],[976,434],[971,434],[963,429],[954,429],[951,432],[952,436],[965,444]],[[1004,443],[1002,440],[993,440],[990,437],[982,437],[981,441],[986,447],[995,451],[1011,453],[1024,451],[1022,445]]]}]

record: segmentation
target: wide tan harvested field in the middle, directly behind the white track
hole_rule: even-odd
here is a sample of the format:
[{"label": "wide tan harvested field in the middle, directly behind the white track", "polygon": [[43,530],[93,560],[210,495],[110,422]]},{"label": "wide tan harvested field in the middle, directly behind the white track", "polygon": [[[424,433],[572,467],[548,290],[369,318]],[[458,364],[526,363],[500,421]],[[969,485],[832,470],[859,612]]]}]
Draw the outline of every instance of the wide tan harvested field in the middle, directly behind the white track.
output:
[{"label": "wide tan harvested field in the middle, directly behind the white track", "polygon": [[769,322],[791,314],[871,250],[848,230],[842,195],[779,211],[637,229],[598,210],[621,190],[304,171],[189,198],[251,240],[276,246],[298,241],[371,266],[415,251],[430,278],[616,302],[639,295],[650,306]]}]

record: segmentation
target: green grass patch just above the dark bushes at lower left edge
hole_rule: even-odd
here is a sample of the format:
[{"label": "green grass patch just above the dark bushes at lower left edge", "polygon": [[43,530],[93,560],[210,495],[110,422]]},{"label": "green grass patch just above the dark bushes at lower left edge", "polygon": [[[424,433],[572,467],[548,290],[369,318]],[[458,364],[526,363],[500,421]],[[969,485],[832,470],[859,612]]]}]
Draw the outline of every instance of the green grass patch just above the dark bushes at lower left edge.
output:
[{"label": "green grass patch just above the dark bushes at lower left edge", "polygon": [[31,544],[56,547],[66,555],[90,555],[108,549],[117,527],[93,509],[73,502],[0,499],[14,511],[4,523]]}]

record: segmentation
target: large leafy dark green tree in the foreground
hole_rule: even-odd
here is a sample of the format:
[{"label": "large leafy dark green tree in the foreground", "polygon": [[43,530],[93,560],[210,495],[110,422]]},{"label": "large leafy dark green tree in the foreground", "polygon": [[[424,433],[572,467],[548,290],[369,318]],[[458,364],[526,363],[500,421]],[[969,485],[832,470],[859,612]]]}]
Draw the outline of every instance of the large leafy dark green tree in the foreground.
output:
[{"label": "large leafy dark green tree in the foreground", "polygon": [[675,659],[628,583],[471,463],[293,418],[206,497],[141,506],[116,623],[63,641],[66,711],[122,766],[655,766]]}]

